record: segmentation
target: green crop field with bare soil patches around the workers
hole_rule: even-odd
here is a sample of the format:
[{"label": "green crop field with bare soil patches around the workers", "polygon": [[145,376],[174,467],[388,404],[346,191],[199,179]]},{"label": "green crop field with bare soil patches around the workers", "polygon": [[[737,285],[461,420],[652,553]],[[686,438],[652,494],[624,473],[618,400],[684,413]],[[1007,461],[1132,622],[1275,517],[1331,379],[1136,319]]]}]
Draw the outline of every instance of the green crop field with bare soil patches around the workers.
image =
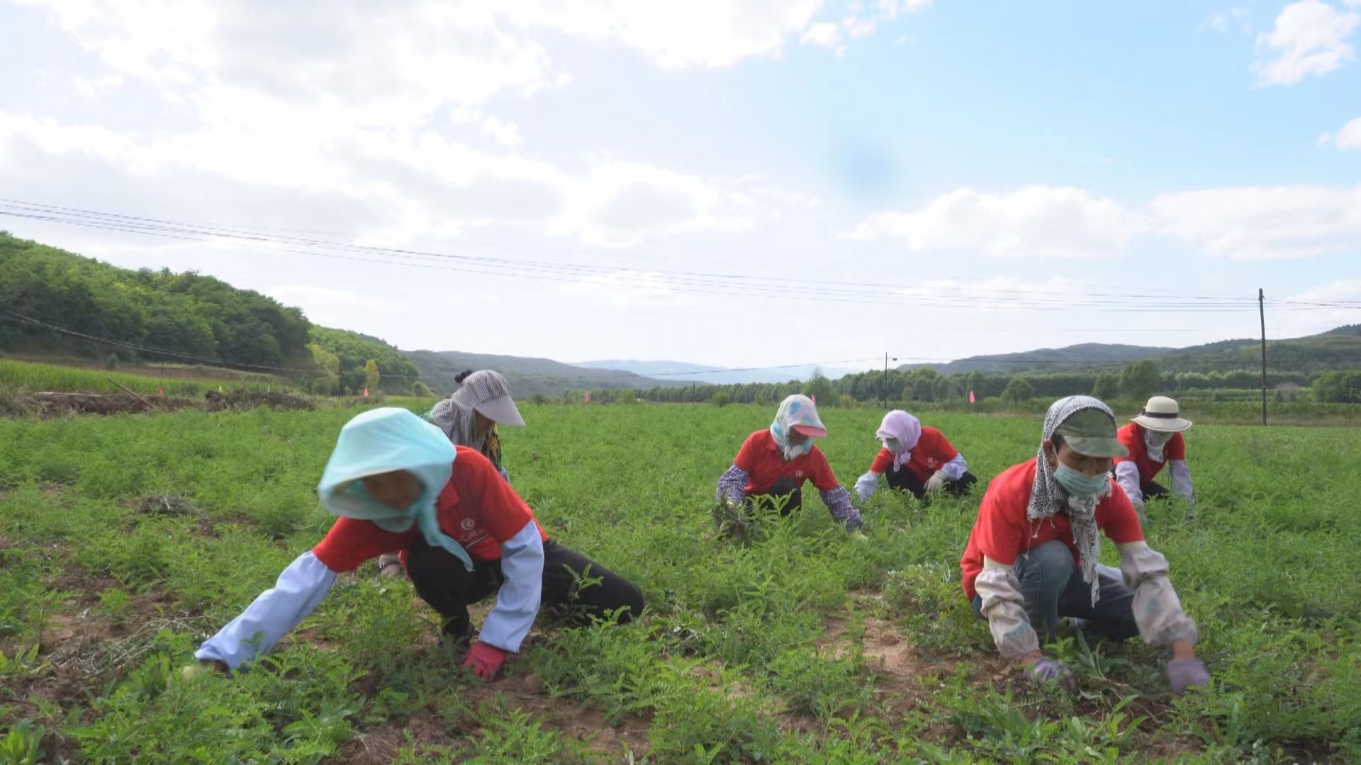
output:
[{"label": "green crop field with bare soil patches around the workers", "polygon": [[[548,532],[645,591],[626,628],[540,619],[490,687],[410,584],[343,576],[255,671],[182,681],[196,644],[331,524],[314,486],[357,410],[0,419],[0,764],[1277,762],[1361,758],[1361,430],[1198,426],[1198,512],[1149,540],[1215,678],[1169,697],[1142,644],[1062,647],[1028,683],[960,589],[977,500],[881,487],[860,546],[815,493],[749,546],[715,481],[773,407],[523,406],[504,434]],[[842,483],[881,411],[826,410]],[[1038,418],[927,414],[987,481]],[[1106,562],[1113,562],[1108,547]]]}]

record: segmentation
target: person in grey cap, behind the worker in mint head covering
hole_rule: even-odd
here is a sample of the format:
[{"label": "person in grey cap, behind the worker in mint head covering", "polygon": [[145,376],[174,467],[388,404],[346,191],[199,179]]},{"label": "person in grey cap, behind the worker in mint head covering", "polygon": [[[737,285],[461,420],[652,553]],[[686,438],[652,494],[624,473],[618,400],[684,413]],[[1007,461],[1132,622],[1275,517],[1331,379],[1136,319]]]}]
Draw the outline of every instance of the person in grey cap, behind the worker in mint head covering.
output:
[{"label": "person in grey cap, behind the worker in mint head covering", "polygon": [[[421,417],[440,426],[455,446],[480,452],[491,460],[501,478],[510,481],[501,467],[501,434],[497,433],[498,425],[524,426],[524,418],[510,397],[510,382],[490,369],[460,372],[453,381],[460,384],[459,389]],[[400,572],[401,561],[396,553],[378,558],[380,576]]]}]

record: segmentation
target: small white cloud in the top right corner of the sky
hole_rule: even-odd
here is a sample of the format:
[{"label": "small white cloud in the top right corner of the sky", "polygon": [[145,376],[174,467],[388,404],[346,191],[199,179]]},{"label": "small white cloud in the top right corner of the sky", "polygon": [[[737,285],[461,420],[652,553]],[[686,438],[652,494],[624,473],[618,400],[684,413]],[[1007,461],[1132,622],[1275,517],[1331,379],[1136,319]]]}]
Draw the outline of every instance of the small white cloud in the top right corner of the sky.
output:
[{"label": "small white cloud in the top right corner of the sky", "polygon": [[1341,68],[1354,57],[1347,37],[1358,26],[1361,14],[1338,11],[1319,0],[1286,5],[1275,27],[1258,35],[1258,83],[1293,84]]}]

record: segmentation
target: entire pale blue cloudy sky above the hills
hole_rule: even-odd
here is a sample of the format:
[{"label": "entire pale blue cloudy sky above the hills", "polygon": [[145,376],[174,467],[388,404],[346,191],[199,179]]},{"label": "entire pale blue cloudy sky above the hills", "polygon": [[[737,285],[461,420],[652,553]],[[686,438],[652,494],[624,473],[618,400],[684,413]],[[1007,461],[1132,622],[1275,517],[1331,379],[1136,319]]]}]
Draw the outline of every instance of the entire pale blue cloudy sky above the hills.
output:
[{"label": "entire pale blue cloudy sky above the hills", "polygon": [[1183,346],[1258,287],[1273,336],[1361,323],[1358,0],[327,8],[0,0],[0,197],[513,275],[0,227],[563,361]]}]

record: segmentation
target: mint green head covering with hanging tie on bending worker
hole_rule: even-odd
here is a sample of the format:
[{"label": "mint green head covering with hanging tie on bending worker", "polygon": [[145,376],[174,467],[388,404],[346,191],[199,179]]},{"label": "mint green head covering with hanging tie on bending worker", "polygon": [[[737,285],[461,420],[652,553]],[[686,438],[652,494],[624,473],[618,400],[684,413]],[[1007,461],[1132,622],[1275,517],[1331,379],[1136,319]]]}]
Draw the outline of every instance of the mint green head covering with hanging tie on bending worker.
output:
[{"label": "mint green head covering with hanging tie on bending worker", "polygon": [[[457,452],[438,427],[404,408],[382,407],[357,415],[340,429],[336,448],[317,485],[321,505],[333,515],[373,521],[392,532],[421,530],[426,544],[444,547],[472,570],[468,553],[440,531],[434,501],[449,483]],[[421,482],[421,495],[404,510],[374,500],[359,482],[366,475],[404,470]]]}]

